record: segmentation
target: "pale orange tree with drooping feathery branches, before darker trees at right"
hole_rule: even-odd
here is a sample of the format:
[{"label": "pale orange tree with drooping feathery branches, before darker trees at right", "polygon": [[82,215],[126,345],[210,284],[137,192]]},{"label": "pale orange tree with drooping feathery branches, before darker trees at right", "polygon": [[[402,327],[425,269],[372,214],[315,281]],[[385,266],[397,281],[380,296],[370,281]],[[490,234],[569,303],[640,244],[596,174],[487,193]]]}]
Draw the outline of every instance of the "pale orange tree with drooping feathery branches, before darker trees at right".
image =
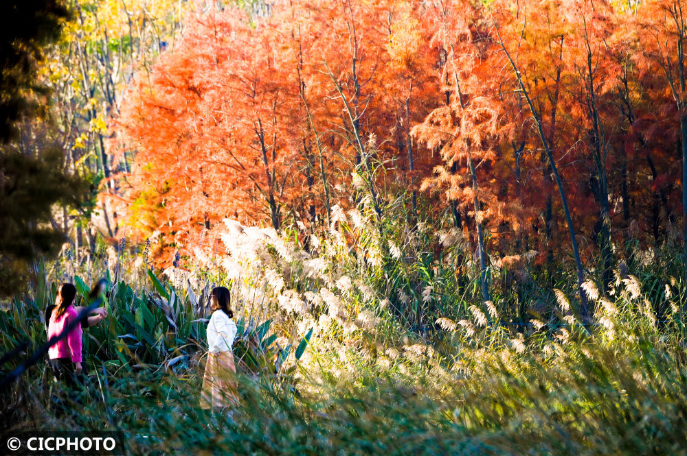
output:
[{"label": "pale orange tree with drooping feathery branches, before darker trees at right", "polygon": [[[440,68],[444,93],[437,94],[444,99],[438,100],[440,106],[413,131],[427,147],[439,149],[444,161],[434,169],[436,177],[425,180],[423,189],[442,189],[449,202],[470,207],[480,259],[482,298],[488,301],[491,297],[484,227],[489,223],[496,228],[507,219],[519,226],[519,204],[517,200],[504,204],[499,199],[499,187],[493,185],[493,180],[489,182],[497,173],[495,149],[503,135],[499,125],[502,115],[489,76],[488,60],[495,48],[486,23],[475,20],[479,16],[479,9],[460,1],[435,3],[429,8],[427,18],[437,31],[433,41],[444,56]],[[482,174],[482,184],[477,169]],[[504,206],[513,210],[504,211]]]}]

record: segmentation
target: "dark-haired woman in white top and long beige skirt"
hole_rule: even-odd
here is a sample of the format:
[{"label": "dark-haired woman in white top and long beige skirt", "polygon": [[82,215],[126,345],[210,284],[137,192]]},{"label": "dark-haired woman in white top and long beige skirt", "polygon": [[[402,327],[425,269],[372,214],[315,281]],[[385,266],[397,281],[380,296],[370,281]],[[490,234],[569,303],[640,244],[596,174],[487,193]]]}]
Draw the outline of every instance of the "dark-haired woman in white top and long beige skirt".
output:
[{"label": "dark-haired woman in white top and long beige skirt", "polygon": [[207,364],[203,376],[201,406],[232,407],[238,404],[236,392],[236,366],[232,345],[236,339],[234,311],[231,295],[225,287],[215,287],[210,293],[212,316],[207,324]]}]

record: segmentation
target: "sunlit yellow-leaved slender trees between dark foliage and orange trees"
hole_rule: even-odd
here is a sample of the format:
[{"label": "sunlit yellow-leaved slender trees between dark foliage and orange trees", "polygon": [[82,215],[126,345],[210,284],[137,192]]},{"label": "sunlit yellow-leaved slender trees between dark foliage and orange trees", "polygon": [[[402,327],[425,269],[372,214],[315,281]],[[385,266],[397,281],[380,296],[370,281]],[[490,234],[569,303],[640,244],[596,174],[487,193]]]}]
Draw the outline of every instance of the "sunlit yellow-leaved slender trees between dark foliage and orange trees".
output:
[{"label": "sunlit yellow-leaved slender trees between dark foliage and orange trees", "polygon": [[133,72],[174,46],[181,16],[192,2],[66,3],[74,14],[46,49],[38,77],[52,91],[50,140],[65,151],[65,168],[89,183],[88,203],[58,215],[65,230],[73,230],[74,254],[82,256],[95,250],[98,231],[113,238],[119,229],[109,198],[119,197],[113,178],[128,172],[131,157],[117,147],[111,117],[120,110]]}]

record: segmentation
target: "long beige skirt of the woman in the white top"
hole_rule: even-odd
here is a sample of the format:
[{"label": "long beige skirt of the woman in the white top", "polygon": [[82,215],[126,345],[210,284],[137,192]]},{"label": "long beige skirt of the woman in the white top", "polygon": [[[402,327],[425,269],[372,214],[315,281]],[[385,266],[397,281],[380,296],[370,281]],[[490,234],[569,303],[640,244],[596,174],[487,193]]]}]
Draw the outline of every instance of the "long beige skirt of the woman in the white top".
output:
[{"label": "long beige skirt of the woman in the white top", "polygon": [[232,352],[208,352],[203,375],[201,407],[236,407],[236,367]]}]

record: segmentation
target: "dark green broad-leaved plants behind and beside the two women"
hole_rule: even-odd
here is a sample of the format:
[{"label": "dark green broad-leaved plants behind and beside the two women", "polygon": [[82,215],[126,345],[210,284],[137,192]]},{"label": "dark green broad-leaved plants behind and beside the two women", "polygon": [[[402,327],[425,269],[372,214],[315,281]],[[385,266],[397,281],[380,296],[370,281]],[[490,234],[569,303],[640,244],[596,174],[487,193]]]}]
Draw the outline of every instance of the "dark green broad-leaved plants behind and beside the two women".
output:
[{"label": "dark green broad-leaved plants behind and beside the two women", "polygon": [[[35,300],[14,300],[0,314],[5,348],[23,341],[30,341],[31,348],[45,343],[42,309],[54,302],[57,284],[47,281],[44,267],[38,276]],[[150,271],[148,276],[152,289],[137,292],[122,281],[112,282],[107,272],[104,307],[109,318],[105,324],[89,328],[84,338],[85,352],[92,357],[91,370],[126,378],[140,370],[159,375],[179,372],[201,362],[205,326],[210,317],[210,287],[205,286],[196,296],[190,285],[176,289],[161,283]],[[74,276],[73,281],[79,292],[76,305],[87,305],[89,286],[80,276]],[[239,328],[234,346],[237,364],[244,372],[255,375],[274,373],[278,348],[274,345],[276,336],[273,337],[271,320],[256,321],[260,312],[249,307],[251,303],[233,305]]]}]

